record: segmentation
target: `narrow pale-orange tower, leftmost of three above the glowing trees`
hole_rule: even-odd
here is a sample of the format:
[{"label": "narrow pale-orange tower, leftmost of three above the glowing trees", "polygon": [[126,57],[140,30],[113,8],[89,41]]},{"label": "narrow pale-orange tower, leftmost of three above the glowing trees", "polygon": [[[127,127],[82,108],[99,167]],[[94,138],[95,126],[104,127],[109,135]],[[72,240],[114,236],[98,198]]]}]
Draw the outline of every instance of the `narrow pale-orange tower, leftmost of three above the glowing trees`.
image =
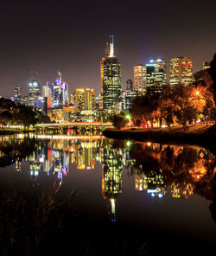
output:
[{"label": "narrow pale-orange tower, leftmost of three above the glowing trees", "polygon": [[142,64],[134,67],[134,90],[138,95],[146,92],[146,67]]}]

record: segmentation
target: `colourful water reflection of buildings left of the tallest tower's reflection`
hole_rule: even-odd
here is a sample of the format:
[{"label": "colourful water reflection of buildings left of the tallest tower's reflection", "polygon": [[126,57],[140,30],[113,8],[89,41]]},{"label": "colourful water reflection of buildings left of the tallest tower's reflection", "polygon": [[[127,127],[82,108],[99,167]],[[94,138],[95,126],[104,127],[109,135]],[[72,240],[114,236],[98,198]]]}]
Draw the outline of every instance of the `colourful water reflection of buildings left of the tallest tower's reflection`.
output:
[{"label": "colourful water reflection of buildings left of the tallest tower's reflection", "polygon": [[[98,150],[100,143],[97,139],[39,140],[35,151],[27,159],[33,183],[36,183],[37,177],[43,172],[48,176],[56,176],[61,184],[63,176],[67,176],[69,172],[69,157],[77,170],[93,170],[96,161],[101,163],[103,156],[101,150]],[[16,170],[21,170],[19,161],[16,163]]]}]

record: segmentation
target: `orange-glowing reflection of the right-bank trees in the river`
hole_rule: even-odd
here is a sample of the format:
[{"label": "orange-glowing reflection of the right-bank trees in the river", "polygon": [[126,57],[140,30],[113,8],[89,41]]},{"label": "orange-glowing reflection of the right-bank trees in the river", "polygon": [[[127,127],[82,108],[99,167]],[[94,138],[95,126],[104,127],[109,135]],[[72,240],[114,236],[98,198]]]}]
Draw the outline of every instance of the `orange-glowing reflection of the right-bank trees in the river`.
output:
[{"label": "orange-glowing reflection of the right-bank trees in the river", "polygon": [[[130,157],[135,159],[137,174],[158,176],[173,191],[184,191],[187,197],[194,192],[213,200],[215,155],[209,150],[189,146],[162,144],[133,144]],[[183,196],[183,194],[182,194]]]}]

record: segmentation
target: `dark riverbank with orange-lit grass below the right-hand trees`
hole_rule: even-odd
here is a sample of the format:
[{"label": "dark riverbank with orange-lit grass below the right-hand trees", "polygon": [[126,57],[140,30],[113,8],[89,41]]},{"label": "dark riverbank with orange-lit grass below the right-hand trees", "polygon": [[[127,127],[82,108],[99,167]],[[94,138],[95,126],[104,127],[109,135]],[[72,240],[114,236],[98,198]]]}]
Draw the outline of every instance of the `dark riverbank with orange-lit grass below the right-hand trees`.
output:
[{"label": "dark riverbank with orange-lit grass below the right-hand trees", "polygon": [[214,145],[215,125],[191,125],[184,130],[182,126],[168,128],[130,128],[107,129],[103,131],[106,138],[131,139],[137,141],[154,141],[172,144]]}]

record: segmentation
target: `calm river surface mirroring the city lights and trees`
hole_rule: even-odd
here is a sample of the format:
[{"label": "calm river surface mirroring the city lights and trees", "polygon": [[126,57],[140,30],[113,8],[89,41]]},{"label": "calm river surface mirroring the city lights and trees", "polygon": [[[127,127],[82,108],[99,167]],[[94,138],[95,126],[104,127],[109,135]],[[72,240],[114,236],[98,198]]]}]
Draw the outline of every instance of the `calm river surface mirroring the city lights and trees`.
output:
[{"label": "calm river surface mirroring the city lights and trees", "polygon": [[188,145],[101,136],[4,136],[0,178],[40,189],[48,180],[77,191],[100,219],[216,245],[215,154]]}]

